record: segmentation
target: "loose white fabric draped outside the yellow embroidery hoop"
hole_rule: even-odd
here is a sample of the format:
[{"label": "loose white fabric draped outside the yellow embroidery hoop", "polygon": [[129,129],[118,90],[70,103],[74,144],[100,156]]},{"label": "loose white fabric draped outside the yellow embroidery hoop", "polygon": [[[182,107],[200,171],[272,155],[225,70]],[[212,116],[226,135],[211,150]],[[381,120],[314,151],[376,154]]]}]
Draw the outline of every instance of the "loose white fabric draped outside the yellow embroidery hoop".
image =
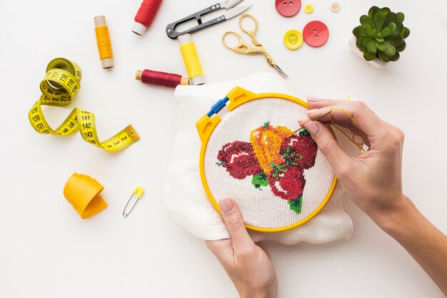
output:
[{"label": "loose white fabric draped outside the yellow embroidery hoop", "polygon": [[[228,238],[228,231],[221,215],[206,197],[201,183],[199,173],[201,141],[196,131],[196,121],[235,86],[241,86],[254,93],[276,92],[296,95],[288,89],[283,79],[275,74],[255,74],[220,84],[177,87],[178,129],[165,184],[164,200],[174,221],[201,239]],[[348,154],[351,156],[358,154],[358,149],[346,136],[334,131],[339,144]],[[318,154],[321,155],[321,152],[318,151]],[[283,244],[295,244],[301,241],[322,243],[348,238],[351,236],[353,224],[341,206],[342,194],[343,190],[338,186],[326,207],[306,224],[280,233],[250,231],[251,237],[255,242],[273,240]],[[281,199],[278,202],[281,202]]]}]

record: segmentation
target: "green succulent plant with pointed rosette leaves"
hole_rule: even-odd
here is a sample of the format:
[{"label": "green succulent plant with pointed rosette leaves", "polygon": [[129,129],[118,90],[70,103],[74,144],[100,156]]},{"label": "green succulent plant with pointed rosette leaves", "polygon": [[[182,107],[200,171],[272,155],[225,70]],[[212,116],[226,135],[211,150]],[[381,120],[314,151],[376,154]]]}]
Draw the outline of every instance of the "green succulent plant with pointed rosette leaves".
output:
[{"label": "green succulent plant with pointed rosette leaves", "polygon": [[410,29],[403,26],[403,13],[394,13],[388,7],[371,7],[368,16],[360,17],[360,26],[352,33],[357,37],[356,45],[363,51],[363,58],[371,61],[397,61],[400,52],[406,48],[404,39],[410,35]]}]

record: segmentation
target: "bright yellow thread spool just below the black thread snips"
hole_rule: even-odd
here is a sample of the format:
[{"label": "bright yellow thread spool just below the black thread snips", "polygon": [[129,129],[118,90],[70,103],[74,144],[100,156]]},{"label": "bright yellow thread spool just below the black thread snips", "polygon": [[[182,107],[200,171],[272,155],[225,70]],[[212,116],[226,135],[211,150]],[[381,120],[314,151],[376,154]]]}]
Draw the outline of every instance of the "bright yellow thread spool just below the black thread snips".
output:
[{"label": "bright yellow thread spool just below the black thread snips", "polygon": [[204,71],[199,60],[199,54],[197,54],[196,45],[191,39],[190,34],[183,34],[178,37],[180,42],[181,56],[183,56],[186,71],[191,78],[193,85],[201,85],[205,83]]}]

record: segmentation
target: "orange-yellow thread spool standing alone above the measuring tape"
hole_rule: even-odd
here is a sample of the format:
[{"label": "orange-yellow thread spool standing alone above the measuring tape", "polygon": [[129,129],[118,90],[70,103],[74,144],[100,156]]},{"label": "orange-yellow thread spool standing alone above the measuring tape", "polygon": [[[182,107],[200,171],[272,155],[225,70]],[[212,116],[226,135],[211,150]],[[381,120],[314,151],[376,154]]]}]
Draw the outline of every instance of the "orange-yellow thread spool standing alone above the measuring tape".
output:
[{"label": "orange-yellow thread spool standing alone above the measuring tape", "polygon": [[99,59],[103,69],[114,67],[114,53],[111,49],[109,27],[105,16],[95,16],[96,44],[98,45]]}]

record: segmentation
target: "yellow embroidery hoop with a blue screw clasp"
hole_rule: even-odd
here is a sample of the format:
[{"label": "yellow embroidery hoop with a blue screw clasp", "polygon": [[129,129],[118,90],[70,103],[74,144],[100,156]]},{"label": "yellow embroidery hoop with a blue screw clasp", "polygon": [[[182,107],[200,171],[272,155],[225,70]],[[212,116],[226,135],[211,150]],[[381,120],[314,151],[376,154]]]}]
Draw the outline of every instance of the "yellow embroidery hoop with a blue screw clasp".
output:
[{"label": "yellow embroidery hoop with a blue screw clasp", "polygon": [[[204,116],[201,117],[201,119],[199,119],[199,121],[196,122],[196,128],[199,133],[199,137],[201,139],[201,150],[200,150],[200,158],[199,158],[199,171],[200,171],[200,176],[201,176],[201,182],[202,182],[202,185],[206,192],[206,196],[208,197],[208,199],[211,202],[211,204],[213,205],[213,207],[219,213],[221,213],[219,203],[216,201],[216,199],[214,199],[213,194],[211,194],[211,190],[209,189],[209,185],[208,185],[208,182],[206,181],[206,174],[205,174],[206,147],[208,146],[208,142],[211,137],[211,134],[213,134],[214,129],[216,129],[216,126],[221,121],[221,117],[219,116],[218,113],[225,107],[226,107],[226,109],[228,109],[228,112],[231,112],[231,111],[233,111],[233,109],[236,109],[238,106],[246,104],[249,101],[253,101],[256,99],[268,99],[268,98],[286,99],[288,101],[293,101],[294,103],[303,106],[305,109],[308,109],[308,106],[305,101],[298,99],[296,97],[287,95],[287,94],[279,94],[279,93],[254,94],[248,90],[242,89],[241,87],[235,87],[228,94],[226,94],[226,97],[224,99],[221,99],[216,104],[214,104],[214,106],[211,107],[211,111],[209,111],[208,114],[205,114]],[[228,104],[227,104],[227,102],[228,102]],[[328,128],[331,129],[330,126],[328,126]],[[331,129],[331,132],[333,133],[332,129]],[[326,194],[326,197],[323,199],[321,204],[318,206],[318,208],[315,209],[314,212],[312,212],[311,214],[309,214],[307,217],[305,217],[304,219],[302,219],[299,222],[290,224],[286,227],[279,227],[279,228],[253,227],[248,224],[245,224],[245,226],[247,229],[251,229],[256,232],[264,232],[264,233],[284,232],[284,231],[287,231],[290,229],[294,229],[298,226],[301,226],[302,224],[305,224],[306,222],[313,219],[313,217],[315,217],[319,212],[321,212],[321,210],[326,206],[326,204],[331,199],[333,192],[336,189],[337,183],[338,183],[338,179],[335,175],[333,175],[331,187],[328,190],[328,193]]]}]

